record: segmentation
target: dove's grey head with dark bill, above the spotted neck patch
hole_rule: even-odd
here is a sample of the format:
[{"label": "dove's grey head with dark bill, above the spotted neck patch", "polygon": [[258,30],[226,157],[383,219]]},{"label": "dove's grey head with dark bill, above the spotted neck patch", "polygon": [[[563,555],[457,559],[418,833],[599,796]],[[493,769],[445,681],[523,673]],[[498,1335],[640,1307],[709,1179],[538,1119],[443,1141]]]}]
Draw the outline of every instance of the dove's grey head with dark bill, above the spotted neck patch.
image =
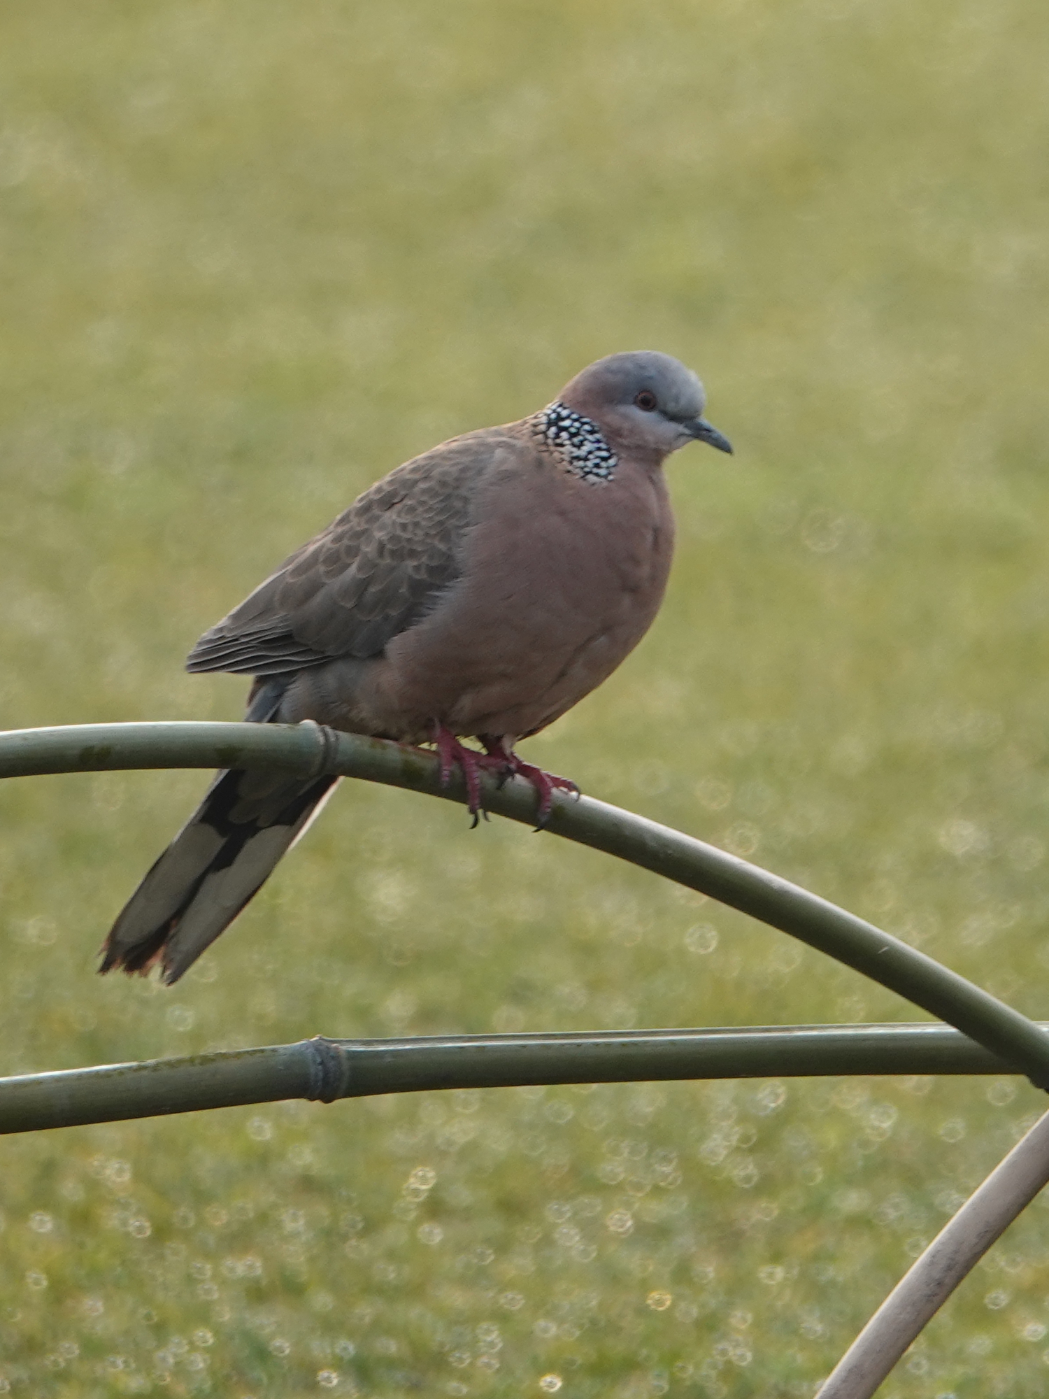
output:
[{"label": "dove's grey head with dark bill, above the spotted neck patch", "polygon": [[590,418],[617,453],[663,457],[687,442],[732,443],[704,417],[702,383],[680,360],[656,350],[611,354],[565,385],[558,402]]}]

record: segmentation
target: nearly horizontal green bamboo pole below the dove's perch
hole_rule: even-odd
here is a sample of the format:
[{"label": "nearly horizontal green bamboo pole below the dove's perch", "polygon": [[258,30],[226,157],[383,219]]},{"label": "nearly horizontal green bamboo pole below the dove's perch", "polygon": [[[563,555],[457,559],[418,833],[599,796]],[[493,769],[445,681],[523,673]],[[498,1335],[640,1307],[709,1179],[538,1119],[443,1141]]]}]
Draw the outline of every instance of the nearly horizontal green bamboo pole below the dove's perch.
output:
[{"label": "nearly horizontal green bamboo pole below the dove's perch", "polygon": [[302,1039],[180,1059],[0,1079],[0,1133],[285,1098],[671,1079],[1008,1073],[934,1024],[785,1025],[606,1034]]}]

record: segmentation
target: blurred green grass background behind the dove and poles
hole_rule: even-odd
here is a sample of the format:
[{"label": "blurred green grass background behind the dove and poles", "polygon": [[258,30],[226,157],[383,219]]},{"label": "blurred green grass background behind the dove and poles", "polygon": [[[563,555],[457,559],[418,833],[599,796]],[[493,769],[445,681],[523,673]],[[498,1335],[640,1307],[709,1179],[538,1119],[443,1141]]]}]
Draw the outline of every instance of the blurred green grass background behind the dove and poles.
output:
[{"label": "blurred green grass background behind the dove and poles", "polygon": [[[400,460],[694,365],[650,637],[526,747],[1032,1016],[1049,11],[4,11],[0,722],[238,718],[182,656]],[[0,792],[3,1072],[331,1035],[913,1018],[552,838],[343,786],[171,992],[99,981],[200,774]],[[1021,1080],[429,1094],[3,1144],[0,1391],[803,1396]],[[1035,1206],[884,1393],[1045,1393]]]}]

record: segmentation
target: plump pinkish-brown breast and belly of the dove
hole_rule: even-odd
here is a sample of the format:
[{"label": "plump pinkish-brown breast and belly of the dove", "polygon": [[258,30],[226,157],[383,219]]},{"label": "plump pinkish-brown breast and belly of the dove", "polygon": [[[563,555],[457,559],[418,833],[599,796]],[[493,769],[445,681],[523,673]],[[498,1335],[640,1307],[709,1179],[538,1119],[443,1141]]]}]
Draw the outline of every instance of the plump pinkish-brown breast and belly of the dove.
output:
[{"label": "plump pinkish-brown breast and belly of the dove", "polygon": [[652,624],[674,543],[666,481],[638,467],[582,481],[508,453],[476,519],[463,578],[390,642],[383,688],[406,723],[425,713],[459,734],[522,737],[599,686]]}]

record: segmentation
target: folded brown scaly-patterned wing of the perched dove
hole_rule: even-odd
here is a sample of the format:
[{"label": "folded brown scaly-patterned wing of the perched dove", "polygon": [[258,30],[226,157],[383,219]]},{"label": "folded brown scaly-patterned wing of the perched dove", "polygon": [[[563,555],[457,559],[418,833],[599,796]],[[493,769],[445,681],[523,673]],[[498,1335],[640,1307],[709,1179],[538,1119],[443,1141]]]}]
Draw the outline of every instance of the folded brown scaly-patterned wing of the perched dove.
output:
[{"label": "folded brown scaly-patterned wing of the perched dove", "polygon": [[206,631],[186,669],[271,676],[333,656],[375,656],[462,572],[476,483],[502,429],[471,432],[378,481]]}]

